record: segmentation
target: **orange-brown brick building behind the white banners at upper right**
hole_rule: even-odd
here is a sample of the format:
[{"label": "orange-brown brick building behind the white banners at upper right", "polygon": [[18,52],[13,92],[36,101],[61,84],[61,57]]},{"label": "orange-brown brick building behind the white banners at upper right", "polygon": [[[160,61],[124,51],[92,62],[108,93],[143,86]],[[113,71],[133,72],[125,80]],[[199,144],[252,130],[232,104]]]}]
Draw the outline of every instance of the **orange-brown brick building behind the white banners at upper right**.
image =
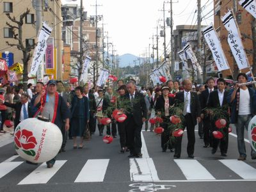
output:
[{"label": "orange-brown brick building behind the white banners at upper right", "polygon": [[[237,71],[237,65],[234,65],[236,61],[234,61],[234,57],[232,56],[232,52],[230,51],[230,47],[227,42],[227,29],[223,26],[221,22],[221,17],[225,15],[225,13],[228,12],[228,10],[231,10],[236,6],[237,12],[236,20],[239,27],[239,30],[241,32],[242,42],[244,45],[244,49],[246,51],[246,55],[248,57],[248,61],[250,65],[253,64],[253,44],[250,37],[252,36],[252,15],[248,13],[242,6],[240,6],[237,1],[236,4],[233,4],[234,1],[230,0],[216,0],[214,1],[214,28],[216,29],[216,32],[221,40],[221,45],[223,48],[223,51],[225,52],[225,56],[227,57],[228,64],[231,68],[230,70],[225,70],[222,72],[223,77],[227,76],[236,76],[237,73],[234,74],[234,70]],[[247,72],[247,70],[243,70],[243,72]],[[234,77],[236,79],[236,77]]]}]

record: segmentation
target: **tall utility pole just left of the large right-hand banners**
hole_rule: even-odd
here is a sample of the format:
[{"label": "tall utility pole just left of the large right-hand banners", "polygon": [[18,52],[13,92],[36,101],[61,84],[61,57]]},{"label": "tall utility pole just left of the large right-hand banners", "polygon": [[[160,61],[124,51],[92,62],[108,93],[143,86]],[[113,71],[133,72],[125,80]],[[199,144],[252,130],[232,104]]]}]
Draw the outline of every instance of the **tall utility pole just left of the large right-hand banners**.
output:
[{"label": "tall utility pole just left of the large right-hand banners", "polygon": [[[201,47],[202,47],[202,40],[201,40],[201,0],[197,0],[197,47],[198,47],[198,65],[201,66]],[[202,83],[202,76],[197,70],[197,83]]]}]

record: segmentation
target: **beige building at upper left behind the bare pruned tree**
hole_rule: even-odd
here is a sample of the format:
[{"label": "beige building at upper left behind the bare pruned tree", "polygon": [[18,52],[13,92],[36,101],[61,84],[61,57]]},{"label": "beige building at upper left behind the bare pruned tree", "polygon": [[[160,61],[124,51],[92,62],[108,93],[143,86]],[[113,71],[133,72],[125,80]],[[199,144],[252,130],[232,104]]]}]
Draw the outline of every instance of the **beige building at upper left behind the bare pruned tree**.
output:
[{"label": "beige building at upper left behind the bare pruned tree", "polygon": [[[34,2],[34,1],[33,1]],[[61,59],[61,51],[63,49],[63,44],[61,42],[61,3],[60,1],[42,1],[42,20],[46,22],[51,28],[52,33],[51,37],[54,38],[54,45],[58,47],[56,51],[56,62],[59,67],[58,79],[61,79],[62,72],[62,59]],[[0,3],[0,52],[11,52],[13,53],[13,61],[14,63],[23,63],[22,62],[22,51],[17,49],[16,46],[8,46],[6,42],[8,41],[10,44],[17,44],[18,40],[13,38],[13,33],[10,30],[10,26],[6,24],[9,22],[12,26],[17,26],[14,22],[12,22],[8,17],[6,17],[6,13],[10,13],[11,17],[15,17],[15,19],[19,20],[20,15],[26,10],[29,10],[29,14],[24,18],[23,26],[22,26],[22,40],[24,42],[24,46],[31,46],[36,42],[36,12],[35,12],[35,4],[31,3],[31,0],[6,0],[1,1]],[[15,33],[17,33],[17,29]],[[33,54],[33,51],[31,51]],[[29,60],[31,63],[32,58]],[[29,69],[29,67],[28,67]],[[57,70],[55,69],[55,72]]]}]

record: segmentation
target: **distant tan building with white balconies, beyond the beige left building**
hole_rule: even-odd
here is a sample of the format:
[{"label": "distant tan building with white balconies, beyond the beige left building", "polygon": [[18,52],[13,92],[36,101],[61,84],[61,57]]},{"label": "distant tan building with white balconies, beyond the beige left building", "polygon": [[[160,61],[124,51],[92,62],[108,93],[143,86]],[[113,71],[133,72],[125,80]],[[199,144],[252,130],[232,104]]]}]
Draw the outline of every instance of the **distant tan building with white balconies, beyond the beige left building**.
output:
[{"label": "distant tan building with white balconies, beyond the beige left building", "polygon": [[[70,45],[70,49],[72,52],[72,65],[76,65],[74,61],[75,57],[79,57],[81,52],[80,50],[80,15],[79,15],[79,6],[77,4],[64,4],[61,9],[62,17],[63,17],[63,29],[62,29],[62,37],[65,44]],[[99,19],[99,16],[98,18]],[[97,35],[97,46],[96,46],[96,35]],[[93,68],[93,64],[96,60],[96,51],[98,48],[98,68],[102,68],[102,37],[103,31],[101,28],[96,29],[95,26],[95,17],[87,17],[87,13],[83,12],[83,52],[84,55],[88,55],[92,58],[92,62],[89,67],[88,80],[92,79],[90,75],[93,72],[90,72],[90,69]],[[77,72],[72,70],[74,76],[76,76]],[[100,70],[99,70],[100,71]],[[75,74],[74,74],[75,73]],[[99,75],[99,72],[98,72]]]}]

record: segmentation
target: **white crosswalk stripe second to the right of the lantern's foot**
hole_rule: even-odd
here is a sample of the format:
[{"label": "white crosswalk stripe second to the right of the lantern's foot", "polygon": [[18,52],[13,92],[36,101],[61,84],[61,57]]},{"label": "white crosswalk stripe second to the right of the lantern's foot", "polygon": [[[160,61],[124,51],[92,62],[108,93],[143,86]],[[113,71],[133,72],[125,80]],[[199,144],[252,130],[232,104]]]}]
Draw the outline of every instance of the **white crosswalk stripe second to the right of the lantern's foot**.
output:
[{"label": "white crosswalk stripe second to the right of the lantern's foot", "polygon": [[109,159],[88,159],[75,182],[102,182],[108,163]]}]

